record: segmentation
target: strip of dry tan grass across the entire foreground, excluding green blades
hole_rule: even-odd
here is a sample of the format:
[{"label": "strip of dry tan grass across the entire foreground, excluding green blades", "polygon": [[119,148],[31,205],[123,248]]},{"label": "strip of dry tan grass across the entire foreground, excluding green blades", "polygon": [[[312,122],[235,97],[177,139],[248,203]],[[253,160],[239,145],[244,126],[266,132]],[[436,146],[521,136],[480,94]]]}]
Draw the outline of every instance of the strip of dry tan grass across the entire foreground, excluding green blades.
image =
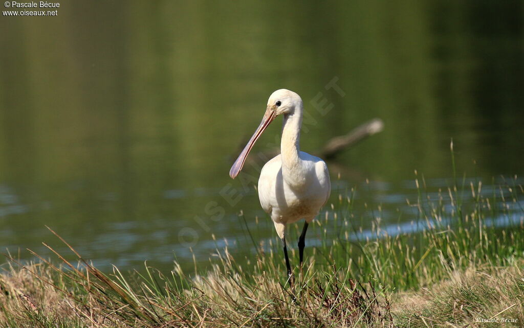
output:
[{"label": "strip of dry tan grass across the entire foreground, excluding green blades", "polygon": [[[12,264],[12,263],[11,263]],[[57,272],[47,264],[11,265],[0,275],[3,326],[522,326],[524,261],[468,268],[418,291],[387,294],[334,273],[283,287],[269,273],[225,274],[219,267],[172,289],[159,273],[129,283],[96,268]],[[335,270],[336,272],[336,270]],[[89,276],[88,275],[92,276]],[[183,274],[173,275],[180,279]],[[107,280],[106,280],[107,279]],[[158,288],[155,290],[155,288]],[[391,301],[392,300],[392,301]],[[478,322],[478,318],[491,320]],[[502,322],[506,318],[508,322]]]}]

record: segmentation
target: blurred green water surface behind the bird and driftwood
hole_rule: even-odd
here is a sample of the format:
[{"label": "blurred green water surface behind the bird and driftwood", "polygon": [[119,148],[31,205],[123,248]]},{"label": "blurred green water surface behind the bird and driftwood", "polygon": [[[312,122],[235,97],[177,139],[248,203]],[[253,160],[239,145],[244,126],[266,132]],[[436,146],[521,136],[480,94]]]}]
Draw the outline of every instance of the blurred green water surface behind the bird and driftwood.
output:
[{"label": "blurred green water surface behind the bird and driftwood", "polygon": [[[304,100],[303,151],[384,121],[328,163],[332,201],[356,188],[363,224],[374,207],[383,224],[413,219],[415,169],[446,190],[451,138],[466,185],[521,182],[523,18],[522,1],[482,0],[68,1],[57,17],[2,16],[2,252],[62,247],[45,225],[106,268],[253,252],[246,228],[257,242],[275,232],[228,171],[279,88]],[[326,90],[334,77],[344,97]]]}]

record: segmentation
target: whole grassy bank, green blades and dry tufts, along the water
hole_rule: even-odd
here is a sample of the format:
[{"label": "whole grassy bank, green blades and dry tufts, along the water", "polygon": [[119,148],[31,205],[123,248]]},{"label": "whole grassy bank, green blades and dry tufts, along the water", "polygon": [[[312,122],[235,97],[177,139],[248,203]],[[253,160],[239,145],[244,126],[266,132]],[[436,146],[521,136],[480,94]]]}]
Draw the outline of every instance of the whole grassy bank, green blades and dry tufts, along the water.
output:
[{"label": "whole grassy bank, green blades and dry tufts, along the water", "polygon": [[[354,191],[341,193],[315,221],[311,234],[322,242],[310,246],[291,288],[276,239],[253,240],[257,253],[242,264],[227,247],[217,249],[210,269],[195,260],[191,273],[176,265],[165,274],[147,264],[141,273],[103,273],[72,247],[74,261],[51,247],[58,261],[34,254],[38,262],[20,263],[7,255],[0,324],[522,326],[524,190],[516,178],[489,193],[466,181],[433,194],[417,177],[410,206],[417,213],[412,225],[422,232],[381,229],[378,208],[372,233],[359,233]],[[329,237],[332,229],[336,237]]]}]

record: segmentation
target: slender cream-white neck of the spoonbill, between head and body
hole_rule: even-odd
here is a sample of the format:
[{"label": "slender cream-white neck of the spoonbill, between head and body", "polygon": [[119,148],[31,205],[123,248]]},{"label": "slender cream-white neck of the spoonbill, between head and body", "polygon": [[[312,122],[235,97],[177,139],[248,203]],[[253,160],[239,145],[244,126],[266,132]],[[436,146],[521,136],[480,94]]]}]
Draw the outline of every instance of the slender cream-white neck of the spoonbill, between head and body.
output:
[{"label": "slender cream-white neck of the spoonbill, between head and body", "polygon": [[300,127],[302,126],[302,105],[297,106],[292,114],[284,116],[280,154],[282,156],[282,177],[288,185],[300,185],[301,173]]}]

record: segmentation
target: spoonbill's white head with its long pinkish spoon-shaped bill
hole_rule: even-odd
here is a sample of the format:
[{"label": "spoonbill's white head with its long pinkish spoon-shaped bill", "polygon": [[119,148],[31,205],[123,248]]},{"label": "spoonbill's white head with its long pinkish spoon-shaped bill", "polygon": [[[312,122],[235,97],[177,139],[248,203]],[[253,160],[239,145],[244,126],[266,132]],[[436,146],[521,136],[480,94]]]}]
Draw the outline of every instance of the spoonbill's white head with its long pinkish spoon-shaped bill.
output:
[{"label": "spoonbill's white head with its long pinkish spoon-shaped bill", "polygon": [[288,89],[279,89],[269,96],[266,112],[262,118],[262,122],[260,122],[260,125],[256,129],[255,133],[253,133],[251,139],[249,139],[247,142],[244,150],[242,153],[240,153],[240,155],[238,155],[238,158],[236,159],[233,166],[231,166],[231,178],[234,179],[238,173],[240,173],[242,167],[244,166],[244,162],[246,161],[247,154],[249,154],[249,151],[253,148],[253,145],[260,137],[262,132],[266,130],[269,124],[279,115],[283,114],[287,116],[294,114],[297,108],[302,108],[302,99],[297,93],[289,91]]}]

